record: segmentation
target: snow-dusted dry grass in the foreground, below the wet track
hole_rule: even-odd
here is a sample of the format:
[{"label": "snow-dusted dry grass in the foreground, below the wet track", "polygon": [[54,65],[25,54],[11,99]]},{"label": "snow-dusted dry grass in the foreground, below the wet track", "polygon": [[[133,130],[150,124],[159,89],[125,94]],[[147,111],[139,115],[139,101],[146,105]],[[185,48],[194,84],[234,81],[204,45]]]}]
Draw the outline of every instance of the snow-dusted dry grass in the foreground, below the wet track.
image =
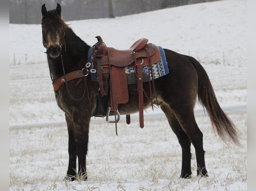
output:
[{"label": "snow-dusted dry grass in the foreground, below the wet track", "polygon": [[[246,190],[246,113],[231,114],[243,148],[226,145],[212,132],[208,117],[198,116],[204,133],[209,177],[197,177],[191,149],[191,179],[179,178],[181,148],[165,117],[113,124],[92,121],[87,156],[88,181],[63,180],[68,166],[66,126],[10,129],[10,190]],[[124,118],[124,117],[122,117]]]}]

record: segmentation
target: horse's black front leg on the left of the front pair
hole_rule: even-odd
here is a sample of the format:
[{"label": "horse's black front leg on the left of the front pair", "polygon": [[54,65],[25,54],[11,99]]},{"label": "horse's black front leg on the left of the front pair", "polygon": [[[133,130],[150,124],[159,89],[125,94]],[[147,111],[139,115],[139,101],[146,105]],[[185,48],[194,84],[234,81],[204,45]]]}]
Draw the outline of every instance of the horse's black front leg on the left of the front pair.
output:
[{"label": "horse's black front leg on the left of the front pair", "polygon": [[76,147],[76,134],[75,125],[72,116],[65,113],[66,122],[69,132],[69,167],[66,179],[74,181],[76,179],[76,166],[77,166],[77,147]]}]

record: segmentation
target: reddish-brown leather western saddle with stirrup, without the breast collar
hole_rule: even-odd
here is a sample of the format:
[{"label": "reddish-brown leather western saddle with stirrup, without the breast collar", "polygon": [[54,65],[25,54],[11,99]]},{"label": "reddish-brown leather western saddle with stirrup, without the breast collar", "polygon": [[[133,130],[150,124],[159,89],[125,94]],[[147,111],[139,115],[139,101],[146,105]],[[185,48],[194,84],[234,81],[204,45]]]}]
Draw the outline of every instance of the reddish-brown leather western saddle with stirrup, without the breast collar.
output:
[{"label": "reddish-brown leather western saddle with stirrup, without the breast collar", "polygon": [[[118,104],[127,103],[129,100],[127,75],[125,67],[130,66],[135,70],[135,82],[137,84],[137,91],[139,95],[139,121],[140,127],[144,127],[143,117],[143,85],[145,81],[149,82],[150,87],[150,101],[152,104],[152,91],[150,77],[151,64],[159,62],[161,59],[160,51],[156,45],[147,44],[148,39],[142,38],[137,40],[128,50],[117,50],[114,48],[107,48],[100,36],[98,39],[98,46],[94,52],[93,66],[96,69],[98,76],[99,90],[102,96],[108,95],[110,90],[110,105],[106,114],[106,121],[117,123],[120,119],[118,112]],[[143,79],[145,74],[142,73],[142,67],[148,66],[147,79]],[[153,79],[153,78],[152,78]],[[134,80],[133,80],[134,81]],[[153,86],[154,87],[154,86]],[[152,105],[153,106],[153,105]],[[114,111],[115,121],[109,121],[109,113]],[[116,119],[117,114],[117,119]],[[130,115],[126,115],[127,124],[130,123]]]}]

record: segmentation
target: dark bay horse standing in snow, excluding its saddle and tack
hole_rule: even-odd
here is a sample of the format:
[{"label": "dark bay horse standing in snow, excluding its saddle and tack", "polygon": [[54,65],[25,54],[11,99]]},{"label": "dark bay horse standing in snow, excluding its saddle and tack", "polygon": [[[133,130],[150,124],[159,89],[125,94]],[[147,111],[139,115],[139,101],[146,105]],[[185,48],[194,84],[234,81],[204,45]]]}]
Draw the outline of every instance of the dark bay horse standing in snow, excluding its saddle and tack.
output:
[{"label": "dark bay horse standing in snow, excluding its saddle and tack", "polygon": [[[61,7],[47,11],[41,8],[43,46],[47,49],[47,60],[52,81],[64,73],[71,73],[85,67],[90,46],[81,40],[61,18]],[[233,122],[221,109],[209,77],[202,65],[193,57],[164,49],[169,74],[154,80],[158,103],[165,113],[169,125],[176,134],[182,148],[182,178],[191,177],[191,143],[195,147],[197,175],[208,176],[205,166],[203,133],[194,116],[194,106],[199,102],[206,108],[214,130],[225,142],[239,145],[239,137]],[[82,80],[81,80],[82,79]],[[69,166],[66,178],[87,179],[86,155],[88,150],[89,123],[93,116],[98,90],[90,75],[74,79],[55,91],[58,106],[65,112],[69,134]],[[152,84],[151,84],[152,86]],[[143,83],[145,92],[149,83]],[[135,84],[128,85],[129,101],[119,104],[120,114],[138,111],[138,92]],[[86,92],[86,93],[85,93]],[[144,107],[150,102],[145,98]],[[76,159],[78,157],[78,170]]]}]

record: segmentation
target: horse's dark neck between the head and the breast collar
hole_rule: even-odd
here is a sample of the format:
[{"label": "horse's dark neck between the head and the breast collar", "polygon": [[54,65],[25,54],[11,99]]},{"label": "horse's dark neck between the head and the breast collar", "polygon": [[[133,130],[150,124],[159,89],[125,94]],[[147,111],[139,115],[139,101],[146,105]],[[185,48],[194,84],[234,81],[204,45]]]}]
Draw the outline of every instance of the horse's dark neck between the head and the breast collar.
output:
[{"label": "horse's dark neck between the head and the breast collar", "polygon": [[[65,36],[66,51],[65,46],[63,45],[61,54],[65,74],[68,74],[70,72],[82,70],[82,68],[84,68],[90,46],[82,41],[72,31]],[[64,75],[60,56],[56,59],[52,59],[48,56],[48,64],[51,76],[54,80]]]}]

